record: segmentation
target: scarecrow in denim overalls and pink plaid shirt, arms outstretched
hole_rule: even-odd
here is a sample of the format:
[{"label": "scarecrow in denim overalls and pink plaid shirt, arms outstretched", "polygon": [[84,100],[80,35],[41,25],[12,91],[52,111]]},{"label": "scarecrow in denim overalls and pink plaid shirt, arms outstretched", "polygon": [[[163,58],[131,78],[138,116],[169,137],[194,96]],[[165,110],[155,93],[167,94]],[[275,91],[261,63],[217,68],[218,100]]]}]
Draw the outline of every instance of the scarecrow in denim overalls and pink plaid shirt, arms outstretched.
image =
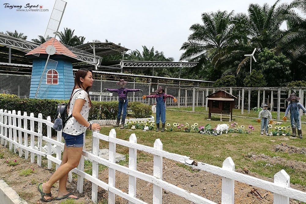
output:
[{"label": "scarecrow in denim overalls and pink plaid shirt, arms outstretched", "polygon": [[165,93],[165,90],[160,86],[158,89],[154,91],[156,94],[142,96],[142,99],[145,98],[156,98],[156,132],[159,131],[159,121],[162,121],[162,129],[161,132],[165,131],[165,123],[166,123],[166,98],[173,98],[173,101],[176,103],[177,99],[173,95],[168,95]]}]

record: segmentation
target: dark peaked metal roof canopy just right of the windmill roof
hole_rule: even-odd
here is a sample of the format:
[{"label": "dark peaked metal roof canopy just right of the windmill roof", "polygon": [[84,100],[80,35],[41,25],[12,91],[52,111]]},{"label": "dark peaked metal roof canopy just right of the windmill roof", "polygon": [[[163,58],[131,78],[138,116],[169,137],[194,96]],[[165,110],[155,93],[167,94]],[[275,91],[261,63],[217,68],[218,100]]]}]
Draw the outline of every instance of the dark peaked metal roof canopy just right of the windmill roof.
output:
[{"label": "dark peaked metal roof canopy just right of the windmill roof", "polygon": [[100,42],[85,43],[83,45],[75,46],[75,48],[84,50],[86,52],[95,54],[97,56],[113,54],[118,52],[125,53],[126,51],[130,50],[128,48],[116,45],[114,43],[100,43]]}]

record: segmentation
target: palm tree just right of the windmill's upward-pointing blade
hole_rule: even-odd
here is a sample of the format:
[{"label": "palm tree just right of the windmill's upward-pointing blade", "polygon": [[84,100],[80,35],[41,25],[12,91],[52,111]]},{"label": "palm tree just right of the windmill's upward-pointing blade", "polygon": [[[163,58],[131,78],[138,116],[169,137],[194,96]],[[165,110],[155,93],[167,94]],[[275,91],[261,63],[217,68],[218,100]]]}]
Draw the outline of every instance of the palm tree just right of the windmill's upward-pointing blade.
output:
[{"label": "palm tree just right of the windmill's upward-pointing blade", "polygon": [[69,45],[69,46],[77,46],[77,45],[82,45],[85,41],[84,36],[76,36],[73,35],[74,30],[71,30],[70,28],[64,28],[64,33],[58,32],[58,37],[59,41],[64,44],[64,45]]}]

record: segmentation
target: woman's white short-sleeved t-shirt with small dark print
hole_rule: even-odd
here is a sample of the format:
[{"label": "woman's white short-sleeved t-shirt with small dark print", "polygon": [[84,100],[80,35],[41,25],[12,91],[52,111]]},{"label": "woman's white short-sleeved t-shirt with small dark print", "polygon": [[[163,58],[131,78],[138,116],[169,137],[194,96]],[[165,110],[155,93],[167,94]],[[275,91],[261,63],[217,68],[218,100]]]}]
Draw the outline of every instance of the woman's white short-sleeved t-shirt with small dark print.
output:
[{"label": "woman's white short-sleeved t-shirt with small dark print", "polygon": [[[81,91],[78,91],[81,90]],[[88,120],[88,113],[89,113],[89,103],[88,103],[88,94],[86,91],[84,91],[83,89],[75,89],[73,91],[73,93],[75,93],[76,91],[78,91],[76,94],[73,95],[70,105],[69,105],[69,111],[68,111],[68,115],[70,116],[72,114],[72,110],[73,110],[73,106],[74,103],[76,101],[76,99],[84,99],[86,100],[84,106],[81,109],[80,114],[84,117],[84,119],[87,121]],[[80,135],[84,132],[86,132],[87,127],[85,127],[84,125],[80,124],[78,121],[76,121],[76,119],[74,117],[69,118],[69,120],[67,121],[67,123],[65,124],[65,127],[63,128],[63,132],[65,132],[66,134],[69,135]]]}]

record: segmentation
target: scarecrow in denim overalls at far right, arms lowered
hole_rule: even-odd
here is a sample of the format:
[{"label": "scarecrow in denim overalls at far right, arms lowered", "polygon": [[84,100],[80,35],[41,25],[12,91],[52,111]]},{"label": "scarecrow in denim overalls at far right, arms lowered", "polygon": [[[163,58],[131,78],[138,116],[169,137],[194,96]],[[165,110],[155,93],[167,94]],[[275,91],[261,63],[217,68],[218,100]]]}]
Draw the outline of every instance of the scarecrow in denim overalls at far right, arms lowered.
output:
[{"label": "scarecrow in denim overalls at far right, arms lowered", "polygon": [[[295,95],[295,93],[290,94],[290,97],[286,99],[286,101],[290,101],[286,112],[285,116],[283,117],[283,121],[287,121],[287,114],[290,110],[290,122],[291,122],[291,127],[292,127],[292,136],[295,137],[297,134],[300,137],[300,139],[303,138],[302,136],[302,127],[301,127],[301,120],[300,120],[300,109],[303,110],[304,113],[306,113],[305,107],[297,102],[300,100],[299,97]],[[296,128],[297,127],[297,132]]]}]

